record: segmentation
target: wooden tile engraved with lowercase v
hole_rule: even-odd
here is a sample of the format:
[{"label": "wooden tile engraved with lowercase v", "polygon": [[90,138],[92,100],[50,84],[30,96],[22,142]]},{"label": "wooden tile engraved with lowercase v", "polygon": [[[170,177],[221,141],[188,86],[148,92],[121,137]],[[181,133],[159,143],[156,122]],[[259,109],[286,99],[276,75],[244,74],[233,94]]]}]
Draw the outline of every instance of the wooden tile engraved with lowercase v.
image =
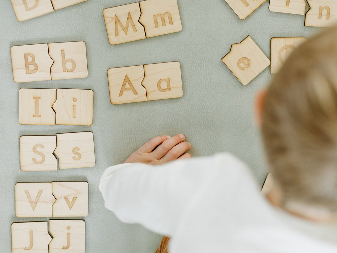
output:
[{"label": "wooden tile engraved with lowercase v", "polygon": [[52,182],[56,201],[53,217],[84,217],[88,215],[87,182]]}]

